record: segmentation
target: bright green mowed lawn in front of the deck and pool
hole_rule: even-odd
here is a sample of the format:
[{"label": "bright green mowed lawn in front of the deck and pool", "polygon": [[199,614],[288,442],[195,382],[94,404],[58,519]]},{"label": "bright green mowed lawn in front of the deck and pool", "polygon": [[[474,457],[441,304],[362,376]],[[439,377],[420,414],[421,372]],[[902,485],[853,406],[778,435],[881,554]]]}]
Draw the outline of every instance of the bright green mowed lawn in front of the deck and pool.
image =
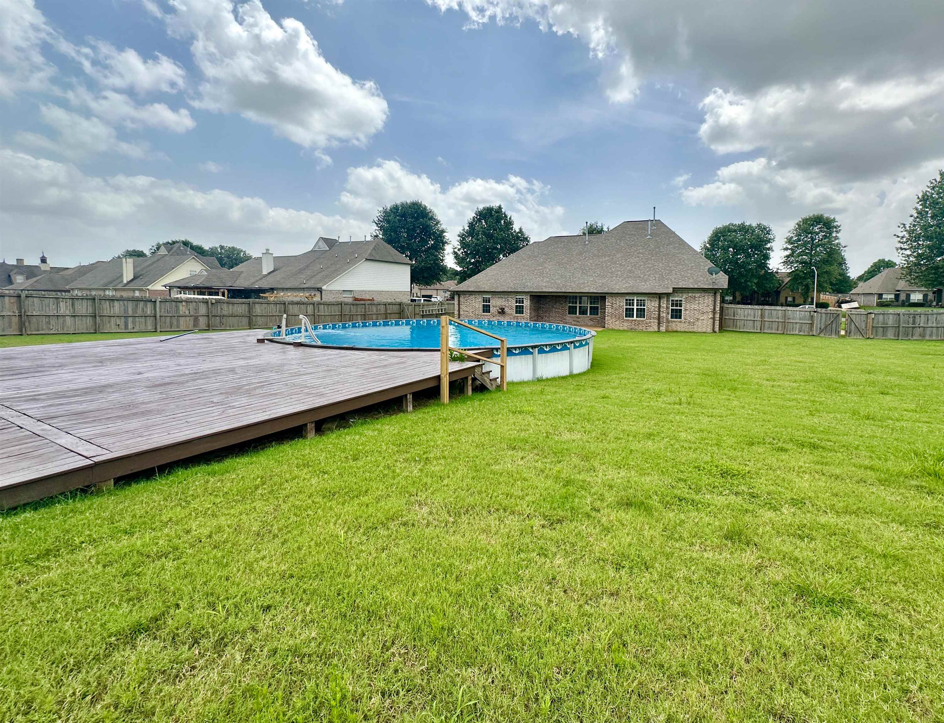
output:
[{"label": "bright green mowed lawn in front of the deck and pool", "polygon": [[944,344],[593,369],[0,515],[3,720],[939,720]]}]

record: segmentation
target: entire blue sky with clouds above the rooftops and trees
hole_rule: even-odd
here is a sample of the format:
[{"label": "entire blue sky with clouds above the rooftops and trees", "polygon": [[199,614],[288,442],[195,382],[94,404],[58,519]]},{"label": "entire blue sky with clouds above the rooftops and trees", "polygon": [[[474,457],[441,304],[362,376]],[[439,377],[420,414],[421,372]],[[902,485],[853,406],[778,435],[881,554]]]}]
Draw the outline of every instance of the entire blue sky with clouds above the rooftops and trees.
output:
[{"label": "entire blue sky with clouds above the rooftops and trees", "polygon": [[891,33],[850,8],[0,0],[0,256],[293,253],[418,197],[453,237],[503,203],[535,241],[824,211],[855,272],[944,164],[944,54],[938,8]]}]

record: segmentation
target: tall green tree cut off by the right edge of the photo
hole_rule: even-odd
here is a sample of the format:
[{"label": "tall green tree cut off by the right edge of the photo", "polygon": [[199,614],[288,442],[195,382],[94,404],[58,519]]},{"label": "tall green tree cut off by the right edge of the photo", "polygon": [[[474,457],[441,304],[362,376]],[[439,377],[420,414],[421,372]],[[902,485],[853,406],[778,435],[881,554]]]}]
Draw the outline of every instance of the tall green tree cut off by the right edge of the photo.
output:
[{"label": "tall green tree cut off by the right edge of the photo", "polygon": [[918,195],[918,203],[901,225],[898,252],[908,280],[928,289],[944,286],[944,170]]}]

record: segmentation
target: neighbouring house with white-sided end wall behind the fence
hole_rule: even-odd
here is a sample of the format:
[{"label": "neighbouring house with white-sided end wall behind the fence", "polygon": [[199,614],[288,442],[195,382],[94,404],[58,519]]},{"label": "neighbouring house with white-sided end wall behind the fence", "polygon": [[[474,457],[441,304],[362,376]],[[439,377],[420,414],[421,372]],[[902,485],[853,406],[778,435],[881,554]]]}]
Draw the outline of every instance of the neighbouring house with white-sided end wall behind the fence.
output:
[{"label": "neighbouring house with white-sided end wall behind the fence", "polygon": [[233,269],[165,284],[174,296],[258,298],[261,294],[299,294],[324,301],[407,301],[411,261],[379,239],[339,243],[319,238],[310,251],[297,256],[261,257]]}]

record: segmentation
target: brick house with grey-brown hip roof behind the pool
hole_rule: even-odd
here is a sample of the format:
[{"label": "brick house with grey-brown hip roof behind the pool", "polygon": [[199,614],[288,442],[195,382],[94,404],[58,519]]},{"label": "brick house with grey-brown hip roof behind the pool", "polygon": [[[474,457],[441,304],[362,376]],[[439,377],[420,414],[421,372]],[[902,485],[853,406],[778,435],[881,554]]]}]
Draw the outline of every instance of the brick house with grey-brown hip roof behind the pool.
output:
[{"label": "brick house with grey-brown hip roof behind the pool", "polygon": [[662,221],[551,236],[455,287],[457,316],[650,331],[717,331],[724,274]]}]

